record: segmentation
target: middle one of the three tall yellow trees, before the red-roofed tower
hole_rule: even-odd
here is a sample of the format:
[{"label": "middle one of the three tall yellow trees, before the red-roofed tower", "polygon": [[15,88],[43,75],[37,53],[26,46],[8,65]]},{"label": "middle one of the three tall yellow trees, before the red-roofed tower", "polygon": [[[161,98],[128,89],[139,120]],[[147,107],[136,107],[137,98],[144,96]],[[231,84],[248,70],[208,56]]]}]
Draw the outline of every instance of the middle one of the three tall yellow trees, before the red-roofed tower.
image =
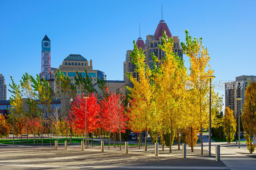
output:
[{"label": "middle one of the three tall yellow trees, before the red-roofed tower", "polygon": [[[159,48],[165,54],[161,60],[152,53],[154,61],[154,70],[152,81],[155,84],[154,100],[156,101],[157,112],[154,120],[157,126],[152,127],[161,136],[162,150],[164,150],[164,134],[170,134],[170,153],[172,152],[172,143],[175,135],[175,129],[182,118],[181,104],[182,96],[185,92],[185,80],[187,69],[183,60],[177,53],[173,52],[173,39],[167,37],[165,31],[162,38],[163,45]],[[158,67],[157,67],[158,65]],[[182,99],[182,100],[181,100]]]}]

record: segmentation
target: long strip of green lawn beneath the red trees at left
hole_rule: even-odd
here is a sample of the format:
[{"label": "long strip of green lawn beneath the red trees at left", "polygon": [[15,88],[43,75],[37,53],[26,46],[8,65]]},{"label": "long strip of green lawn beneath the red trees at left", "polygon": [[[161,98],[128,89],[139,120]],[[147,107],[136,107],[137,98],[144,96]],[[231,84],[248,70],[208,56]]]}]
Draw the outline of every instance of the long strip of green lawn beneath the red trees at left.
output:
[{"label": "long strip of green lawn beneath the red trees at left", "polygon": [[[57,138],[52,138],[52,143],[54,143],[54,141],[57,140]],[[64,141],[66,140],[66,138],[59,138],[59,144],[64,143]],[[72,138],[72,142],[73,143],[81,143],[82,138]],[[50,138],[44,138],[43,139],[43,144],[50,144],[51,139]],[[1,142],[1,140],[0,140]],[[68,142],[69,142],[69,138],[68,138]],[[3,144],[12,144],[13,140],[12,139],[3,139]],[[42,139],[38,139],[36,138],[36,144],[42,144]],[[89,140],[89,143],[92,143],[91,140]],[[99,141],[93,141],[93,143],[100,143]],[[20,139],[14,139],[14,144],[20,144]],[[27,139],[22,139],[21,140],[21,144],[27,144]],[[28,144],[34,144],[34,139],[28,139]]]}]

